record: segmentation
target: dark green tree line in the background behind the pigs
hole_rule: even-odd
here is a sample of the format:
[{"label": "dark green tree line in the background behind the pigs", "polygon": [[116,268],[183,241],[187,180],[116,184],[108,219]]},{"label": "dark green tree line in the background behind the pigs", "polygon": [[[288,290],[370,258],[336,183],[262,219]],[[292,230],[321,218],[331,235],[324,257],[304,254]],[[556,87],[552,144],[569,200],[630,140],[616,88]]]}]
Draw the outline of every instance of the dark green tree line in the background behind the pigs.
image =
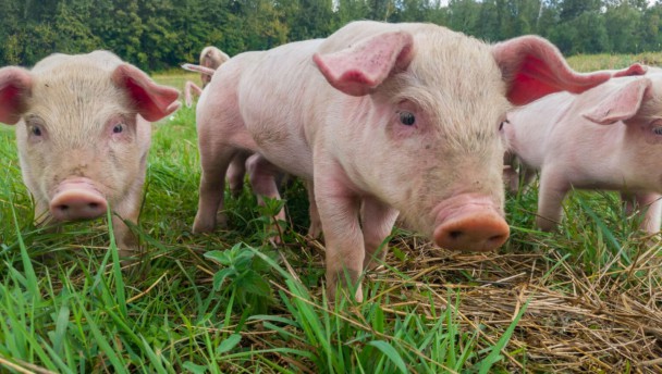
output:
[{"label": "dark green tree line in the background behind the pigs", "polygon": [[354,20],[431,22],[487,41],[538,34],[565,54],[662,49],[662,0],[0,0],[0,65],[108,49],[144,70],[324,37]]}]

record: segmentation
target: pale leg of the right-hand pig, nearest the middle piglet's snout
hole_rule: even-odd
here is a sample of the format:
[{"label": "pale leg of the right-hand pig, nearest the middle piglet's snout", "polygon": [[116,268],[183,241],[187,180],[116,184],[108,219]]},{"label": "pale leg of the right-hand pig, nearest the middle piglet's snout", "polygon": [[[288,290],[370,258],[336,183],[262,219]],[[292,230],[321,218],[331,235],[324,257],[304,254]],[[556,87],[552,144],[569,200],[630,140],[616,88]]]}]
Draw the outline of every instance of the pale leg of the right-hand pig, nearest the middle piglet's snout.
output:
[{"label": "pale leg of the right-hand pig, nearest the middle piglet's snout", "polygon": [[551,232],[556,228],[563,216],[563,199],[568,189],[569,184],[565,178],[553,171],[542,170],[536,217],[536,225],[540,229]]}]

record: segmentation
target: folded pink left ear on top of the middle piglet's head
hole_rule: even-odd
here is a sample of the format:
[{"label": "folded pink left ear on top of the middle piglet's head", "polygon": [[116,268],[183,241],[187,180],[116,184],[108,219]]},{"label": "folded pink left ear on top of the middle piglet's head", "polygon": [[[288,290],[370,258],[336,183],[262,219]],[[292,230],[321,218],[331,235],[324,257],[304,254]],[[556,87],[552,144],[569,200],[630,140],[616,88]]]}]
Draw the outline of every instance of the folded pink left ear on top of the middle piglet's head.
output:
[{"label": "folded pink left ear on top of the middle piglet's head", "polygon": [[364,96],[389,75],[407,68],[413,46],[409,33],[384,33],[338,52],[315,53],[312,60],[331,86],[347,95]]}]

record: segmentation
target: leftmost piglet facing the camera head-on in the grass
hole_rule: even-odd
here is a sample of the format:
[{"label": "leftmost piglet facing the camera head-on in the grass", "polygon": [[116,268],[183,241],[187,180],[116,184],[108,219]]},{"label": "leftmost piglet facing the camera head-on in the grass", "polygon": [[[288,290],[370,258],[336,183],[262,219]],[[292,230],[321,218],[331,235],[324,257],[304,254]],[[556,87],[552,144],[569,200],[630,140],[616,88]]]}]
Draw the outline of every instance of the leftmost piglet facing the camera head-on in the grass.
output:
[{"label": "leftmost piglet facing the camera head-on in the grass", "polygon": [[0,122],[16,125],[36,223],[91,220],[110,207],[121,255],[135,254],[123,220],[135,224],[140,211],[150,122],[174,112],[177,98],[109,51],[1,68]]}]

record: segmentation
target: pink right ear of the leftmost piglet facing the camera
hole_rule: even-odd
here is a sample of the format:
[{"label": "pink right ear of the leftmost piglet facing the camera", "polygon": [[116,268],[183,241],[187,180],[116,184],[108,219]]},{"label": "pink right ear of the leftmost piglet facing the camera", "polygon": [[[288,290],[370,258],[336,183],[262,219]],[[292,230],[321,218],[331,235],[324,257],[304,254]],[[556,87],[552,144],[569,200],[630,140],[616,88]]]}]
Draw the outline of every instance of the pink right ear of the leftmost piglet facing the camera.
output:
[{"label": "pink right ear of the leftmost piglet facing the camera", "polygon": [[157,85],[139,68],[121,64],[112,74],[118,87],[126,89],[138,113],[149,122],[156,122],[180,108],[180,92],[171,87]]}]

